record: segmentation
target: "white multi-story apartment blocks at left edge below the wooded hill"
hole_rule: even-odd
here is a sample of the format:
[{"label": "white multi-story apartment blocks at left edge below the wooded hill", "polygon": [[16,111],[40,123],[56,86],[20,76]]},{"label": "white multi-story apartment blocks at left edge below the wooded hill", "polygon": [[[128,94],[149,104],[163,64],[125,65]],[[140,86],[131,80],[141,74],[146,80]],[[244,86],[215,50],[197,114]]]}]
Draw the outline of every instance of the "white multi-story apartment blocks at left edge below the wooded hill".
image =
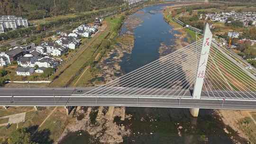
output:
[{"label": "white multi-story apartment blocks at left edge below the wooded hill", "polygon": [[16,16],[1,16],[0,17],[0,33],[3,33],[5,29],[17,29],[19,27],[28,27],[26,18]]}]

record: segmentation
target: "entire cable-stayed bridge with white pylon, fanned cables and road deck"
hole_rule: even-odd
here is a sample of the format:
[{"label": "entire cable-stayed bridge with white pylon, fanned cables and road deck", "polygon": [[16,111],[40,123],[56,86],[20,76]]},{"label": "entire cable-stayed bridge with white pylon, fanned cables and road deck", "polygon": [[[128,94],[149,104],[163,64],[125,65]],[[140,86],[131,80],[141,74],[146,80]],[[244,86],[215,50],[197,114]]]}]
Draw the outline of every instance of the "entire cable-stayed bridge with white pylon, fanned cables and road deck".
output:
[{"label": "entire cable-stayed bridge with white pylon, fanned cables and road deck", "polygon": [[95,88],[0,89],[0,106],[131,106],[256,110],[256,77],[204,38]]}]

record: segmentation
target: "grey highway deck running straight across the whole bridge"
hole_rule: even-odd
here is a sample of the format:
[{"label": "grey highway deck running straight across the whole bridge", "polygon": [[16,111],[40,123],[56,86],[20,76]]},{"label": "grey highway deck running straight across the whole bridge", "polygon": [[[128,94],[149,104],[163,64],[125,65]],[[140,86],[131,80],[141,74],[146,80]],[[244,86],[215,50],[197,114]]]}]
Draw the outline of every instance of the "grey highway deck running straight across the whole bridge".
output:
[{"label": "grey highway deck running straight across the whole bridge", "polygon": [[[256,99],[83,95],[94,88],[0,89],[0,106],[116,106],[256,110]],[[116,88],[120,90],[120,88]],[[123,89],[122,89],[123,90]]]}]

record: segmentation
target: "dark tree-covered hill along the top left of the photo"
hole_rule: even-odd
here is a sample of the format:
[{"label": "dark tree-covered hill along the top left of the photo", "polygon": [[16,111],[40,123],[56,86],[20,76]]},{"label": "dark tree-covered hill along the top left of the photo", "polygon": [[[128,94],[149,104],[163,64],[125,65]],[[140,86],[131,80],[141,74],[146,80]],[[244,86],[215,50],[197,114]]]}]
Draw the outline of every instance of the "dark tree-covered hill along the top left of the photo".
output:
[{"label": "dark tree-covered hill along the top left of the photo", "polygon": [[0,0],[0,15],[18,15],[28,19],[91,11],[124,3],[123,0]]}]

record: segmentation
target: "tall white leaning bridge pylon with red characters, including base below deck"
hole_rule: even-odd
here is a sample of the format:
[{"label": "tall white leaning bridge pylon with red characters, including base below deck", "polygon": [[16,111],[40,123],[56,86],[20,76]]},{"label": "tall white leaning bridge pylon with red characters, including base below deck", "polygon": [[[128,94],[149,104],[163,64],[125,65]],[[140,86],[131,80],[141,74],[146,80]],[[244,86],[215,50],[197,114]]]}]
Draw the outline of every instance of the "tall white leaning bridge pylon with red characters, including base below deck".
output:
[{"label": "tall white leaning bridge pylon with red characters, including base below deck", "polygon": [[[193,99],[200,99],[201,97],[201,91],[203,87],[206,66],[207,66],[208,57],[210,54],[211,41],[212,41],[212,33],[210,31],[209,24],[206,23],[204,28],[203,43],[201,47],[201,55],[198,62],[197,75],[196,75],[193,94],[192,94]],[[191,108],[190,113],[193,117],[198,117],[199,108]]]}]

